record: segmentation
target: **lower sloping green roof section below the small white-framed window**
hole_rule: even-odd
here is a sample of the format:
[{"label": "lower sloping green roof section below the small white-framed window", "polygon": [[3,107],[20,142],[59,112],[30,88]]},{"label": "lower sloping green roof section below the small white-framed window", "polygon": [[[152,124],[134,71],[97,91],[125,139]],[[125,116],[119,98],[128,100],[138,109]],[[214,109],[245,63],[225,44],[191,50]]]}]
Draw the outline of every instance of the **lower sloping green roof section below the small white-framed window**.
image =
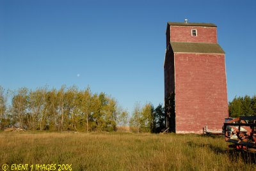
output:
[{"label": "lower sloping green roof section below the small white-framed window", "polygon": [[170,42],[173,52],[225,54],[218,43]]}]

